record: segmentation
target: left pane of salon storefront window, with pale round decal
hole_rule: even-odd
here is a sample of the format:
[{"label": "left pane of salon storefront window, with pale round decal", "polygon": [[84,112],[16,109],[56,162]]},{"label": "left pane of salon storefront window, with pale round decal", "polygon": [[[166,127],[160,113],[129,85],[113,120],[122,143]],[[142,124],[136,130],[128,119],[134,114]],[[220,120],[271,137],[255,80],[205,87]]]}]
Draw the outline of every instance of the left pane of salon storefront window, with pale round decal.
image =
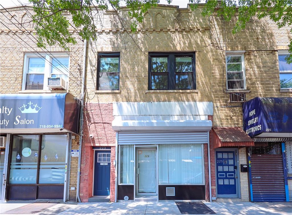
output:
[{"label": "left pane of salon storefront window, with pale round decal", "polygon": [[10,184],[36,183],[39,135],[15,135],[10,163]]}]

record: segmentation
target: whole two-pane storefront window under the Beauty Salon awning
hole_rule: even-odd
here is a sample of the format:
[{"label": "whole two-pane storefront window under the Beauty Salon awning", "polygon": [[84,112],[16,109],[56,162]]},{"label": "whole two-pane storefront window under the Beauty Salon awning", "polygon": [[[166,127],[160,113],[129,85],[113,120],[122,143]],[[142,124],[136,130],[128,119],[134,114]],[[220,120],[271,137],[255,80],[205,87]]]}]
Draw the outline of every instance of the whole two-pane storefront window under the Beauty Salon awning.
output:
[{"label": "whole two-pane storefront window under the Beauty Salon awning", "polygon": [[66,146],[67,135],[13,135],[9,184],[63,184]]}]

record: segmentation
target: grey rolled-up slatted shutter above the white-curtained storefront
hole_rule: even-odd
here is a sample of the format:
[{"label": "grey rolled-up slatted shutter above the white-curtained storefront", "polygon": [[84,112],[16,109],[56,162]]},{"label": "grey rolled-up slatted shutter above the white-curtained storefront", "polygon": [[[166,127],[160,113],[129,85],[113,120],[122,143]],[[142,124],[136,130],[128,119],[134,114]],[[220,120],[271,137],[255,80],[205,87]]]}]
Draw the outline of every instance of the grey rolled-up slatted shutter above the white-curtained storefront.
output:
[{"label": "grey rolled-up slatted shutter above the white-curtained storefront", "polygon": [[208,143],[207,132],[119,132],[119,145]]}]

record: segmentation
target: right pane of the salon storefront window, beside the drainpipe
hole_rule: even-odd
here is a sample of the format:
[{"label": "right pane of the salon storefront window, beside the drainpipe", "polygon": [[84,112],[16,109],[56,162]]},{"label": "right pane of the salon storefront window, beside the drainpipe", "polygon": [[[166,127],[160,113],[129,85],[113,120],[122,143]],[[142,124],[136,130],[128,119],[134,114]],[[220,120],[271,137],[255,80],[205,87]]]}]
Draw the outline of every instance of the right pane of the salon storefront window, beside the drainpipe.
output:
[{"label": "right pane of the salon storefront window, beside the drainpipe", "polygon": [[67,135],[43,135],[41,143],[40,184],[62,184],[65,179]]}]

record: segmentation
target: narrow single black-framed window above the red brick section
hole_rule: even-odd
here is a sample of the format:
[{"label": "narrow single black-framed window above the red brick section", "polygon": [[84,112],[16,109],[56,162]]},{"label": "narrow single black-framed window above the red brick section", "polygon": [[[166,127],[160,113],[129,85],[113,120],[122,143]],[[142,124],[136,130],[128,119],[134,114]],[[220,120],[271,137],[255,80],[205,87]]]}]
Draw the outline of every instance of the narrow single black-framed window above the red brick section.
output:
[{"label": "narrow single black-framed window above the red brick section", "polygon": [[98,54],[97,90],[119,90],[120,53]]}]

